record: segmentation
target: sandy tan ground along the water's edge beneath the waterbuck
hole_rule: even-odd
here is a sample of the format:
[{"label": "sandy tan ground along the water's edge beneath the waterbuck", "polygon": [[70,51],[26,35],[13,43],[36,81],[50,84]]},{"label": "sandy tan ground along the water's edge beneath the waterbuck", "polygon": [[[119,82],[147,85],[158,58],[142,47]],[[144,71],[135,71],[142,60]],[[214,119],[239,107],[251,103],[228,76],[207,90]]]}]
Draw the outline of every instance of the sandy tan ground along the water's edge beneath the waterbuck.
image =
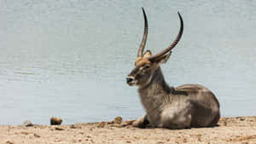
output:
[{"label": "sandy tan ground along the water's edge beneath the waterbuck", "polygon": [[[126,121],[123,124],[129,124]],[[256,116],[221,118],[218,127],[137,129],[119,121],[72,125],[2,125],[0,143],[256,143]]]}]

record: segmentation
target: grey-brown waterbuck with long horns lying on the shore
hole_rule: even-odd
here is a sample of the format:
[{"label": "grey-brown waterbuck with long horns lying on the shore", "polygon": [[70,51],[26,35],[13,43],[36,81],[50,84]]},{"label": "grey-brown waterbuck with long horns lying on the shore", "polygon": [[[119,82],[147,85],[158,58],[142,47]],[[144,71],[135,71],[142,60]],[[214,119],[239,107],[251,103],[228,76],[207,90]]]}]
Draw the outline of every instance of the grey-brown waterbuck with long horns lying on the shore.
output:
[{"label": "grey-brown waterbuck with long horns lying on the shore", "polygon": [[135,68],[127,76],[129,85],[137,85],[140,100],[146,111],[142,118],[133,122],[134,127],[187,129],[214,126],[220,117],[219,103],[215,95],[199,84],[170,87],[166,84],[160,64],[165,63],[172,49],[183,34],[183,18],[177,13],[181,26],[174,42],[156,55],[143,49],[148,36],[148,20],[143,9],[144,34],[135,60]]}]

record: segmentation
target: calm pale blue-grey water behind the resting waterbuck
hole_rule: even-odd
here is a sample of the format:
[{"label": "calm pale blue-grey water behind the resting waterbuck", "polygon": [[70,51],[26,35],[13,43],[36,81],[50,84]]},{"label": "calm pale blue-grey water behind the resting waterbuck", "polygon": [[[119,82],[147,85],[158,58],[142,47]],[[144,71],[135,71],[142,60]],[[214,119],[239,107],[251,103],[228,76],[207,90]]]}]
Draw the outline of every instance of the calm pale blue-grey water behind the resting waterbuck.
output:
[{"label": "calm pale blue-grey water behind the resting waterbuck", "polygon": [[64,124],[143,115],[125,84],[143,36],[154,53],[182,40],[162,66],[166,81],[203,84],[224,117],[255,115],[256,2],[0,0],[0,124]]}]

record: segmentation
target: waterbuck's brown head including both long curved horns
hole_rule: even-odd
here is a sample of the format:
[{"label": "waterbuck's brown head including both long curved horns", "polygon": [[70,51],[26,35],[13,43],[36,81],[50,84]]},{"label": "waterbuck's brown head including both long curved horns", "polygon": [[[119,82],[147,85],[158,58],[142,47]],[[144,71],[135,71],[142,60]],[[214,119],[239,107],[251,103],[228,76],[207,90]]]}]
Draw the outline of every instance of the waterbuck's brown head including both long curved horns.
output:
[{"label": "waterbuck's brown head including both long curved horns", "polygon": [[165,63],[170,55],[172,54],[172,49],[176,46],[177,42],[180,40],[183,34],[183,19],[182,16],[177,13],[180,19],[180,29],[177,34],[174,42],[166,49],[161,51],[156,55],[152,55],[149,50],[147,50],[143,54],[143,49],[145,48],[145,44],[148,36],[148,20],[147,15],[143,9],[144,16],[144,34],[143,41],[138,49],[137,59],[135,60],[135,68],[131,71],[131,73],[127,76],[126,81],[129,85],[144,85],[150,82],[154,72],[159,68],[160,64]]}]

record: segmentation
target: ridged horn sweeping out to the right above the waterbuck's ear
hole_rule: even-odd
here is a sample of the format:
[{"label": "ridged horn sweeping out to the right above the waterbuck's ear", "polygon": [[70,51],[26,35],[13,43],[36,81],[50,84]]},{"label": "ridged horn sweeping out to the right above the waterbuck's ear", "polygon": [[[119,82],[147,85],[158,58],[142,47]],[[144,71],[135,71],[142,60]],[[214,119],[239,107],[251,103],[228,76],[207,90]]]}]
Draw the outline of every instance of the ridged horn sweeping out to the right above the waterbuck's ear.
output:
[{"label": "ridged horn sweeping out to the right above the waterbuck's ear", "polygon": [[177,34],[176,39],[174,40],[174,42],[168,48],[166,48],[165,50],[161,51],[160,53],[158,53],[156,55],[152,55],[152,56],[148,57],[148,60],[154,60],[154,59],[158,58],[159,56],[165,55],[166,53],[171,51],[176,46],[176,44],[178,43],[180,38],[182,37],[182,35],[183,35],[183,18],[181,16],[181,14],[179,14],[179,12],[177,12],[177,14],[178,14],[181,26],[179,28],[179,32]]}]

